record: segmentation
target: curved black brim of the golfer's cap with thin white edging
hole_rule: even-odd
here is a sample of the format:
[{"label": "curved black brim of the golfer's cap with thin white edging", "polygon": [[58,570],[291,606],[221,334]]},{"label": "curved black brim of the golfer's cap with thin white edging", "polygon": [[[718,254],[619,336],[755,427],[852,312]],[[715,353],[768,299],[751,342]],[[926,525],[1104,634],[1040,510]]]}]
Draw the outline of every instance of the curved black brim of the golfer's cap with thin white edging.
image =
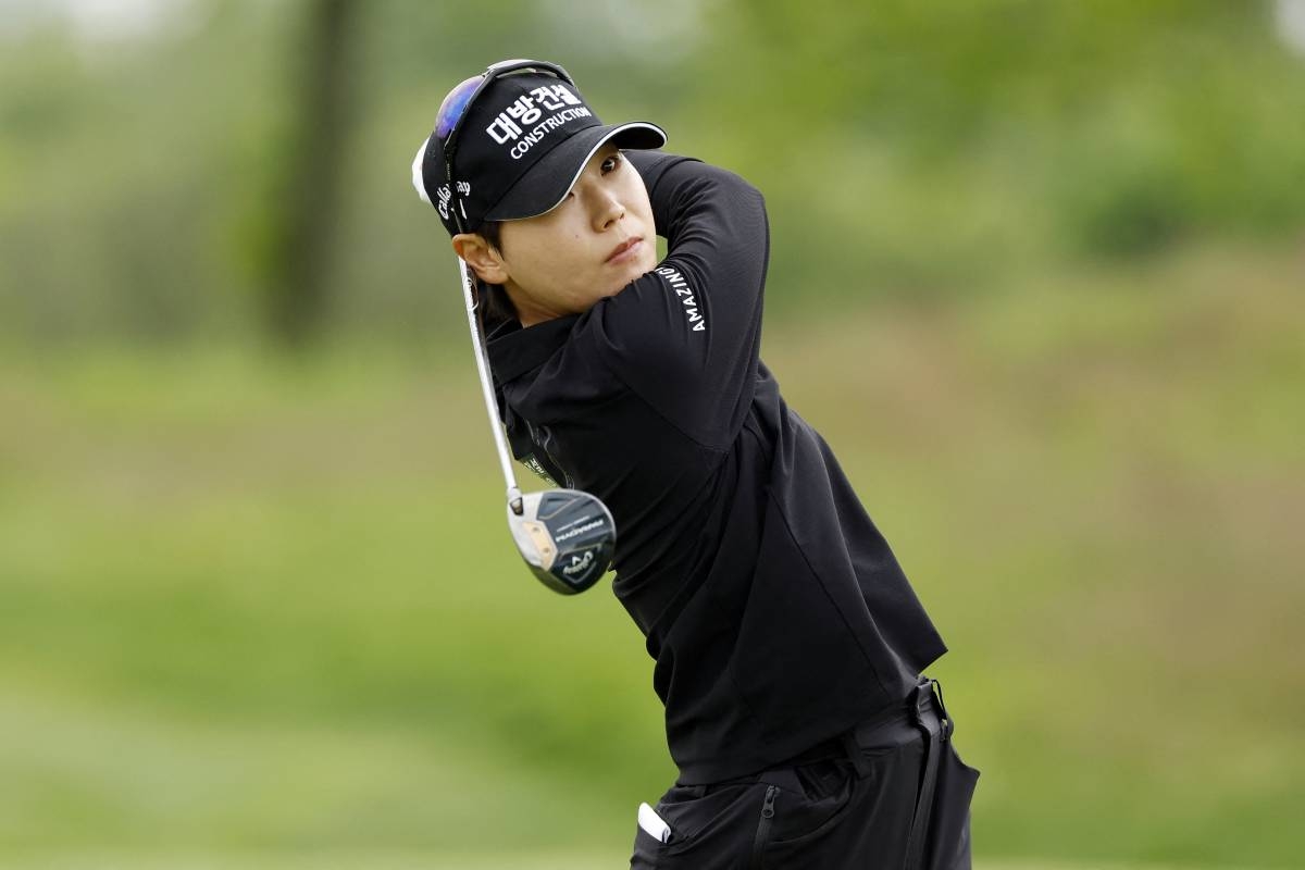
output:
[{"label": "curved black brim of the golfer's cap with thin white edging", "polygon": [[608,142],[622,149],[658,149],[666,145],[666,132],[646,121],[583,129],[530,167],[485,214],[485,220],[521,220],[552,211],[566,198],[590,158]]}]

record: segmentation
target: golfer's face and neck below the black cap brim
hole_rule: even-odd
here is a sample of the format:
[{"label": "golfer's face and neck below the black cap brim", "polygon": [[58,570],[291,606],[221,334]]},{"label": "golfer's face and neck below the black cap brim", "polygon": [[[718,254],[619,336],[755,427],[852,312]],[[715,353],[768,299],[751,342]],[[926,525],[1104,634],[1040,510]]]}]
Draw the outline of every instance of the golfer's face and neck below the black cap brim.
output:
[{"label": "golfer's face and neck below the black cap brim", "polygon": [[508,287],[525,326],[587,310],[656,266],[647,188],[615,146],[602,147],[552,211],[502,224]]}]

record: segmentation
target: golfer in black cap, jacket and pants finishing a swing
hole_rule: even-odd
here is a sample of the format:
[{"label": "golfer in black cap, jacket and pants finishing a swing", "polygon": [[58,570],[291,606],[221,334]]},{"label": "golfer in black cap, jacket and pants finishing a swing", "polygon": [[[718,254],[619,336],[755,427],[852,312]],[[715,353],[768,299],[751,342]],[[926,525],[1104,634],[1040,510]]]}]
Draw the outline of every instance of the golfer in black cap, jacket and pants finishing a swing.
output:
[{"label": "golfer in black cap, jacket and pants finishing a swing", "polygon": [[946,647],[758,357],[762,197],[664,142],[505,61],[414,162],[479,280],[513,451],[620,530],[679,767],[632,867],[968,867],[977,771],[921,677]]}]

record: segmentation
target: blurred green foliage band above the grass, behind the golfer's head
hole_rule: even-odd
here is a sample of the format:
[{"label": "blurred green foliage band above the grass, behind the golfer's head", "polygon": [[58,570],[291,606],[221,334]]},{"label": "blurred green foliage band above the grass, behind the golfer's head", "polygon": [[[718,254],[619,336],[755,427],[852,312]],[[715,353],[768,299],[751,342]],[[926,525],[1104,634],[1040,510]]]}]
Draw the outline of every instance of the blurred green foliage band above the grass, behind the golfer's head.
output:
[{"label": "blurred green foliage band above the grass, behind the golfer's head", "polygon": [[5,340],[252,329],[296,150],[335,137],[330,327],[410,343],[457,323],[407,164],[444,91],[504,56],[564,63],[608,119],[656,120],[757,183],[780,316],[1305,226],[1305,63],[1271,3],[504,0],[472,20],[389,0],[355,16],[347,130],[294,103],[305,9],[196,3],[197,26],[127,47],[7,42]]}]

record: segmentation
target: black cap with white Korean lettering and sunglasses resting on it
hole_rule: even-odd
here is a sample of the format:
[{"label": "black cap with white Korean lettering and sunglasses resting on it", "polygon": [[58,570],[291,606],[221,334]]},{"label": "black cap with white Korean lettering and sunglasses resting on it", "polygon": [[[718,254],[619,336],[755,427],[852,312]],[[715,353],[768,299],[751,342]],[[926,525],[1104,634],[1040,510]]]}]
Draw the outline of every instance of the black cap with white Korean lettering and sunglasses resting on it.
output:
[{"label": "black cap with white Korean lettering and sunglasses resting on it", "polygon": [[[551,211],[607,142],[622,149],[666,145],[666,133],[655,124],[603,124],[569,80],[539,72],[560,70],[551,64],[531,68],[532,61],[505,61],[487,74],[508,63],[521,70],[495,77],[479,94],[484,76],[449,91],[435,132],[412,160],[412,185],[440,213],[450,236],[475,232],[485,220]],[[450,188],[444,145],[454,130],[455,187]]]}]

